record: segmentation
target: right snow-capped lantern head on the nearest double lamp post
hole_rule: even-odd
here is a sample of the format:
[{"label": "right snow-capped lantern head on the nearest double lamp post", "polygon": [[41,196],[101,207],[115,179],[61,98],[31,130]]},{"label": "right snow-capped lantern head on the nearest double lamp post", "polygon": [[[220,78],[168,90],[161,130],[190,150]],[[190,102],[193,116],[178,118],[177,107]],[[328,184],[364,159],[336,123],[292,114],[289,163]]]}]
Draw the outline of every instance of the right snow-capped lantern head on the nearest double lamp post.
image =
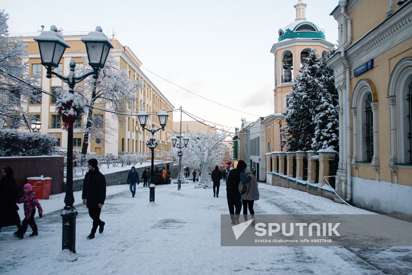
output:
[{"label": "right snow-capped lantern head on the nearest double lamp post", "polygon": [[113,49],[112,43],[103,33],[101,26],[96,27],[96,31],[91,31],[87,36],[82,37],[82,42],[86,45],[89,65],[103,68],[109,55],[109,50]]}]

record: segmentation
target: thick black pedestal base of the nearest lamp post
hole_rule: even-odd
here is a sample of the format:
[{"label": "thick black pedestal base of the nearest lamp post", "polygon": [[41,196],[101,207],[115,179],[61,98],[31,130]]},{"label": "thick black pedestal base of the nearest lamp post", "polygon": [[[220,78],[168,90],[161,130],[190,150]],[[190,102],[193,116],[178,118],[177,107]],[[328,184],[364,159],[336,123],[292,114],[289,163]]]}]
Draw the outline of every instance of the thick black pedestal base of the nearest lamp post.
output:
[{"label": "thick black pedestal base of the nearest lamp post", "polygon": [[63,219],[62,250],[68,249],[76,253],[76,217],[77,210],[74,207],[66,206],[61,211]]}]

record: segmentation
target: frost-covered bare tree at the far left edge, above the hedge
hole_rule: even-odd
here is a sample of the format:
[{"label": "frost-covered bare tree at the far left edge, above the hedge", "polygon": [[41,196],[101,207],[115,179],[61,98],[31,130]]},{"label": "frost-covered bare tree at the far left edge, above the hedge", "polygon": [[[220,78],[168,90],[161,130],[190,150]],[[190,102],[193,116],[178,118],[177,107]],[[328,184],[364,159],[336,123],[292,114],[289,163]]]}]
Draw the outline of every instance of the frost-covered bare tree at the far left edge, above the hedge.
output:
[{"label": "frost-covered bare tree at the far left edge, above the hedge", "polygon": [[9,36],[8,19],[9,14],[4,9],[0,10],[0,128],[30,129],[35,117],[28,115],[27,104],[40,103],[42,93],[19,80],[36,85],[41,74],[37,69],[42,67],[36,67],[31,75],[28,74],[28,62],[22,62],[28,55],[27,44]]}]

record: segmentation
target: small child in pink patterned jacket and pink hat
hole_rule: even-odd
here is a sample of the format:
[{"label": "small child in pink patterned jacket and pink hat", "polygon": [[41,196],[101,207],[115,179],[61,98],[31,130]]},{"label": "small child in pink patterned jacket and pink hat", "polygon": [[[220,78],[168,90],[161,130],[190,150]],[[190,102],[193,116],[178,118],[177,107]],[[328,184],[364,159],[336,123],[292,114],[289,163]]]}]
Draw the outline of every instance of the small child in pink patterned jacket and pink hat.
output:
[{"label": "small child in pink patterned jacket and pink hat", "polygon": [[21,198],[16,199],[16,203],[23,204],[24,207],[24,219],[21,223],[19,230],[14,232],[14,237],[23,239],[24,234],[27,231],[28,225],[30,225],[33,232],[29,235],[30,237],[39,235],[37,230],[37,224],[34,221],[34,215],[36,213],[36,207],[39,210],[40,218],[43,216],[43,209],[39,201],[36,199],[36,193],[32,190],[29,183],[26,183],[23,187],[24,194]]}]

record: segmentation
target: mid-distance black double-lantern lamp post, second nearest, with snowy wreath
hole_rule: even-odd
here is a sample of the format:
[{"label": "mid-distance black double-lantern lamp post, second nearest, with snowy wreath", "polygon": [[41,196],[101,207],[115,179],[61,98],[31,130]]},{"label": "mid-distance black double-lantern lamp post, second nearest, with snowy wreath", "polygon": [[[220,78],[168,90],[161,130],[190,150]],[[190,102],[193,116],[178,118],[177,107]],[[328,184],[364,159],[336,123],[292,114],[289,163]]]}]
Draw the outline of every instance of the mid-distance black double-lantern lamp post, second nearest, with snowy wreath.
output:
[{"label": "mid-distance black double-lantern lamp post, second nearest, with snowy wreath", "polygon": [[[164,130],[164,126],[166,126],[167,118],[169,117],[169,114],[162,108],[162,110],[159,111],[159,113],[156,114],[157,117],[159,118],[159,123],[161,128],[155,129],[155,123],[152,123],[152,128],[148,129],[146,128],[146,123],[147,119],[149,118],[149,114],[145,111],[145,109],[142,109],[141,111],[138,112],[137,117],[139,118],[139,123],[140,126],[142,126],[142,131],[143,130],[148,130],[150,133],[152,133],[153,139],[155,139],[155,133],[158,130]],[[150,177],[150,185],[154,182],[155,178],[155,147],[150,147],[150,150],[152,151],[152,176]],[[149,186],[150,188],[150,194],[149,194],[149,202],[155,202],[155,184],[152,186]]]}]

